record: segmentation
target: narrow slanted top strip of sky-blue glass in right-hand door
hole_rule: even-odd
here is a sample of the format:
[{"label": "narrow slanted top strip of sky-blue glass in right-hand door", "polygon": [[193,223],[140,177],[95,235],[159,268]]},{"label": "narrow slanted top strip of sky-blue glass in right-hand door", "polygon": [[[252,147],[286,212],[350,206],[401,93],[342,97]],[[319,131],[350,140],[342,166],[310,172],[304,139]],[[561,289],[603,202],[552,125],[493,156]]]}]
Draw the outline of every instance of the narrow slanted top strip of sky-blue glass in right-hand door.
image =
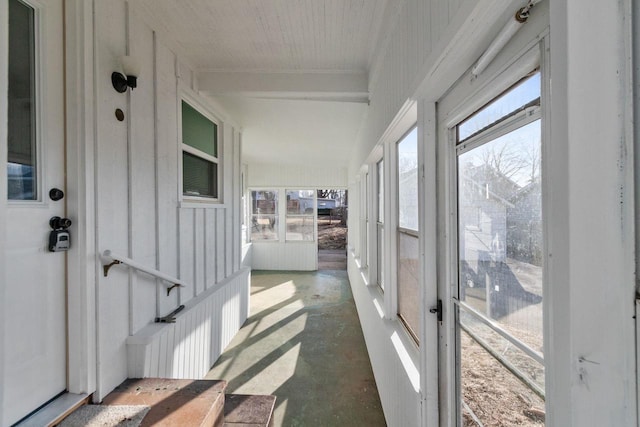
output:
[{"label": "narrow slanted top strip of sky-blue glass in right-hand door", "polygon": [[523,80],[458,126],[458,142],[540,99],[540,72]]}]

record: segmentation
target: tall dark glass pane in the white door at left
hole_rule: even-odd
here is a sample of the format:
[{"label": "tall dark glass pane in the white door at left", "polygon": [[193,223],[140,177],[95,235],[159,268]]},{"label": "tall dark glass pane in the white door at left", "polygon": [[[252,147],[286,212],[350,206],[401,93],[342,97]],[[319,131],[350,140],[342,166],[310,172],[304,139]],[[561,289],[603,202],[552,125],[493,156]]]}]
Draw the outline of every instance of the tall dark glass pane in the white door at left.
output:
[{"label": "tall dark glass pane in the white door at left", "polygon": [[34,11],[9,1],[8,198],[36,200]]}]

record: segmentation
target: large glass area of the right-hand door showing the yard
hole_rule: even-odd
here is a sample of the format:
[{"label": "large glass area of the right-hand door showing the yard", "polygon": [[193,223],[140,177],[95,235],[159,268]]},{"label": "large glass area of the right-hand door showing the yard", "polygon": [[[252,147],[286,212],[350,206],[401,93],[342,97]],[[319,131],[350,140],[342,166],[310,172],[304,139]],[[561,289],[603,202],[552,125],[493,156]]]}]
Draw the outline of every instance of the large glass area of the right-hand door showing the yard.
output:
[{"label": "large glass area of the right-hand door showing the yard", "polygon": [[534,71],[452,130],[464,426],[544,424],[540,92]]}]

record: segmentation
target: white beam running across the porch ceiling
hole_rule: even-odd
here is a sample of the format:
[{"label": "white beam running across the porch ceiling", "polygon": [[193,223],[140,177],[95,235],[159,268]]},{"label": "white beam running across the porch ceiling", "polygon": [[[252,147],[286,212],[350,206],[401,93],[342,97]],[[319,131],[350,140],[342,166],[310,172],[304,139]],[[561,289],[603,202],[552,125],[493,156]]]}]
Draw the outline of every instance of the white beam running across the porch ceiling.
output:
[{"label": "white beam running across the porch ceiling", "polygon": [[196,78],[212,96],[369,102],[368,76],[359,72],[202,71]]}]

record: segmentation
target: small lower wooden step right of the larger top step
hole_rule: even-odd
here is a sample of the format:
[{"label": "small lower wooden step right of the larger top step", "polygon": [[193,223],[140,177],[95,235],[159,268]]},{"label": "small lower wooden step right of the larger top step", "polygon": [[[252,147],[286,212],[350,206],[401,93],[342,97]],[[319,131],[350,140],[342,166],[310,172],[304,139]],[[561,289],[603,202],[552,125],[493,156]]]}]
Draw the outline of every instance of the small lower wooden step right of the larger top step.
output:
[{"label": "small lower wooden step right of the larger top step", "polygon": [[227,394],[224,427],[268,427],[275,404],[271,395]]}]

